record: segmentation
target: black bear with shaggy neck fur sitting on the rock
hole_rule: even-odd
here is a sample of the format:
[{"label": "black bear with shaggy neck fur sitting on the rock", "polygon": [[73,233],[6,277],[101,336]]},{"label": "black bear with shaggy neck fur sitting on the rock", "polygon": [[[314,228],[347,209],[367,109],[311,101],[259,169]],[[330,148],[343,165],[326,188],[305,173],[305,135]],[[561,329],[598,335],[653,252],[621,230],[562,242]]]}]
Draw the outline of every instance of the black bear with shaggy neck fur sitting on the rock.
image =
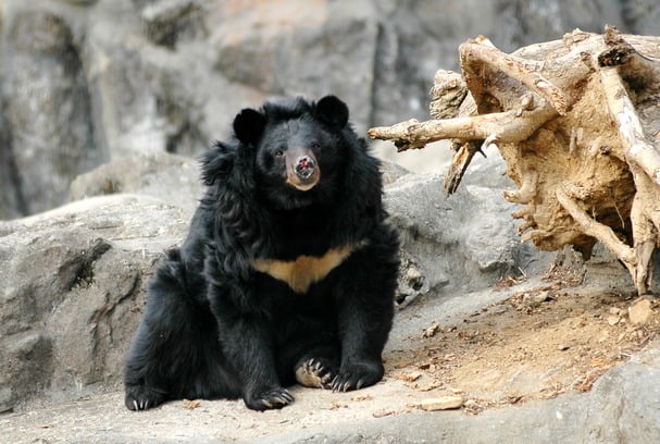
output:
[{"label": "black bear with shaggy neck fur sitting on the rock", "polygon": [[126,358],[126,407],[242,397],[263,410],[291,403],[296,381],[378,382],[399,245],[347,106],[245,109],[201,163],[206,195],[150,283]]}]

